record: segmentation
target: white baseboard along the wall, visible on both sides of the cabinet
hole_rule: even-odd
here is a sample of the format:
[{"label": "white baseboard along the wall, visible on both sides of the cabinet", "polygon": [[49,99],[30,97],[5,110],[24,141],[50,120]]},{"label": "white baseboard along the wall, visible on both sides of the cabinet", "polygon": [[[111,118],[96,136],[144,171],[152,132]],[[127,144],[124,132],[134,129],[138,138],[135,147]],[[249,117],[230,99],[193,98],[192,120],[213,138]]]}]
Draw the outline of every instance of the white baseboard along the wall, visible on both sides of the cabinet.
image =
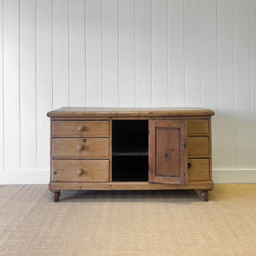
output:
[{"label": "white baseboard along the wall, visible on both sides of the cabinet", "polygon": [[[256,183],[256,169],[213,169],[214,183]],[[49,171],[2,171],[0,184],[48,184]]]}]

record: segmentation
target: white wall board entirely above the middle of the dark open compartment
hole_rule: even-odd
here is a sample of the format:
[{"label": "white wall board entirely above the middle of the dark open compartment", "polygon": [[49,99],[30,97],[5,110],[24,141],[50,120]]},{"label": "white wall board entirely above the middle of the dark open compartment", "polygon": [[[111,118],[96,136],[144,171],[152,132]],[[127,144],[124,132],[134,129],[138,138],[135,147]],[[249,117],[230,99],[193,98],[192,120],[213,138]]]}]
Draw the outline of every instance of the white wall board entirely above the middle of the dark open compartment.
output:
[{"label": "white wall board entirely above the middle of the dark open compartment", "polygon": [[135,107],[134,1],[119,0],[119,107]]}]

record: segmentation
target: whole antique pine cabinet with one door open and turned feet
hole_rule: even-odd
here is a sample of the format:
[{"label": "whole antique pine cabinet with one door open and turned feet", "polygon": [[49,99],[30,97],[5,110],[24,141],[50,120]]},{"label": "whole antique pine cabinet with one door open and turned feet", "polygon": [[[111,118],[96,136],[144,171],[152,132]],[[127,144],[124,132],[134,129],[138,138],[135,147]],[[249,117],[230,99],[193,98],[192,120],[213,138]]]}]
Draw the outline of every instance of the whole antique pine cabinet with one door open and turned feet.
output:
[{"label": "whole antique pine cabinet with one door open and turned feet", "polygon": [[197,189],[207,201],[213,114],[201,108],[50,111],[53,200],[66,189]]}]

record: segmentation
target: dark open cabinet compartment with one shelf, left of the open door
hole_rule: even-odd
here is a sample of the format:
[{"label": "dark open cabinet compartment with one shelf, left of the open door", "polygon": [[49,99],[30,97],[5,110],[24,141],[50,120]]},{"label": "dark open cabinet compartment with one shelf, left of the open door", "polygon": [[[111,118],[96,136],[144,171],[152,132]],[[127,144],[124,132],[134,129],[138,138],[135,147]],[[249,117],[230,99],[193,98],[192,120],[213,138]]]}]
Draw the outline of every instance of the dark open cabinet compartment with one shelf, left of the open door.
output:
[{"label": "dark open cabinet compartment with one shelf, left of the open door", "polygon": [[112,180],[148,181],[148,120],[113,120]]}]

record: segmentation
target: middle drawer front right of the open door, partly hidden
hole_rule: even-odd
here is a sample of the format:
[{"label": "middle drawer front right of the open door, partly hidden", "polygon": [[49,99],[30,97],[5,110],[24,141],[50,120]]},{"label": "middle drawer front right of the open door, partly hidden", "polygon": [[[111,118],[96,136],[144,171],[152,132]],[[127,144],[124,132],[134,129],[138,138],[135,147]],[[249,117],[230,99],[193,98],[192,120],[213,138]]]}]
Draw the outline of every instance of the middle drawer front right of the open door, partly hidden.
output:
[{"label": "middle drawer front right of the open door, partly hidden", "polygon": [[189,157],[208,157],[209,154],[209,137],[188,137]]}]

